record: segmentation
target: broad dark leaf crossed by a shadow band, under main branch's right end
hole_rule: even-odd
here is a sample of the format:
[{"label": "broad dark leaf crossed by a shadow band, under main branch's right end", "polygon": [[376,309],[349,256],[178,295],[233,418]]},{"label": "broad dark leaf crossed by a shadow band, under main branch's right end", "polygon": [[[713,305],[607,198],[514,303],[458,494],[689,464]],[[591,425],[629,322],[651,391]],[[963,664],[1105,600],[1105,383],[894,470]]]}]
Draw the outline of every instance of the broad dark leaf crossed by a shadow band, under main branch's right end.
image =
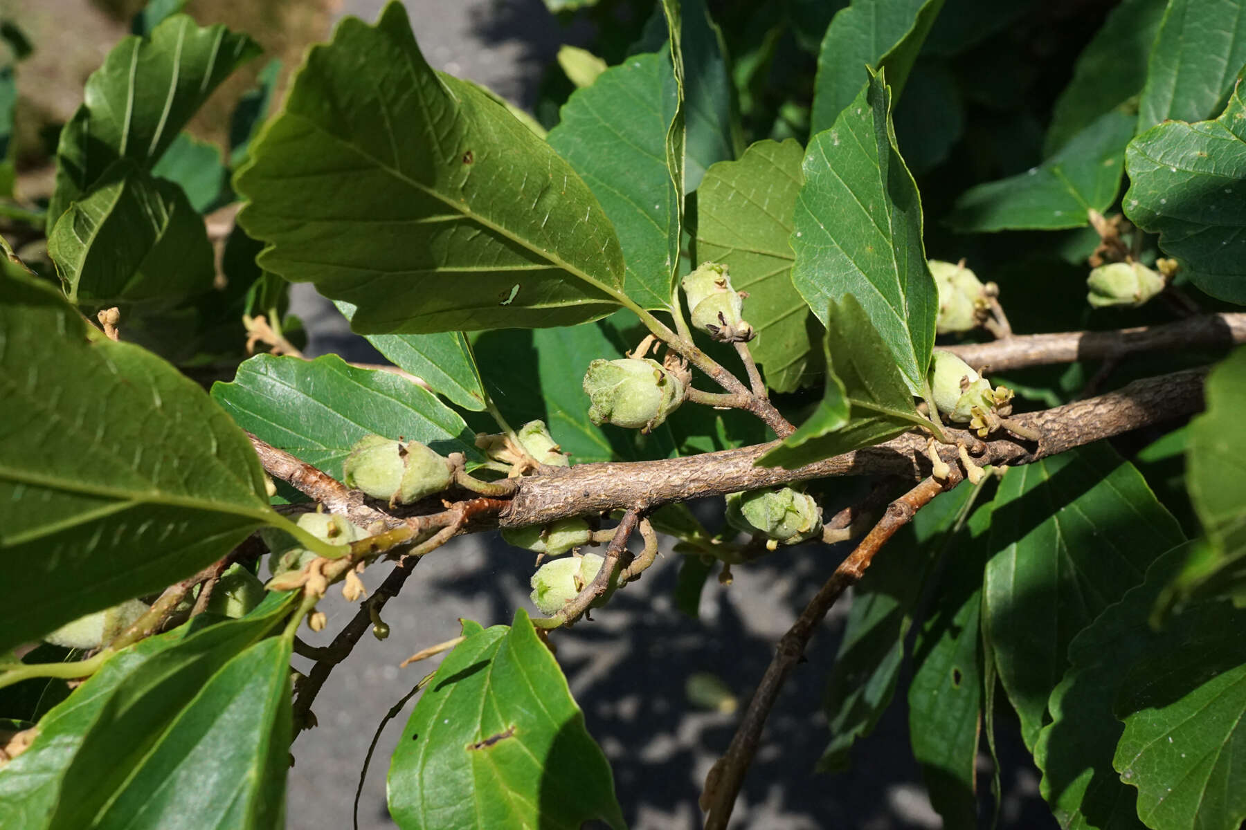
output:
[{"label": "broad dark leaf crossed by a shadow band, under main branch's right end", "polygon": [[1027,747],[1073,637],[1181,541],[1176,520],[1106,444],[1008,470],[994,500],[983,626]]}]

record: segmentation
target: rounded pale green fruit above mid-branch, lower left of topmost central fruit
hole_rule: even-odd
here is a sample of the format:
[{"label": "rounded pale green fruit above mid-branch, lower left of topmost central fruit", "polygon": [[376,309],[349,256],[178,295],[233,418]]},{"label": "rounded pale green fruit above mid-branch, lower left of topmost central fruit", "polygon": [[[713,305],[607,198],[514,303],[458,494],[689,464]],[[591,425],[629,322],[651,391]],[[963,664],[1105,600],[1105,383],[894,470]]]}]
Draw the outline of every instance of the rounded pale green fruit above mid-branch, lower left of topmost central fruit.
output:
[{"label": "rounded pale green fruit above mid-branch, lower left of topmost central fruit", "polygon": [[684,402],[684,385],[649,358],[594,360],[584,373],[588,419],[652,431]]}]

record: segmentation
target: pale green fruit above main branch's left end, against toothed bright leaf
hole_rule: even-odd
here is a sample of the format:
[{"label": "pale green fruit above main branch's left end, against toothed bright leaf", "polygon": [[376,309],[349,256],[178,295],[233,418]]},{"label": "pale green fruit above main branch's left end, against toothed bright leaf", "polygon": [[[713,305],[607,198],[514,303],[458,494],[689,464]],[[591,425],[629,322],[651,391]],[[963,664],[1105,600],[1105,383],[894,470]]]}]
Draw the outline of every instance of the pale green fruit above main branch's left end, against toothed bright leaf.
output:
[{"label": "pale green fruit above main branch's left end, against toothed bright leaf", "polygon": [[445,458],[417,441],[364,436],[343,462],[343,482],[374,499],[410,504],[450,487]]}]

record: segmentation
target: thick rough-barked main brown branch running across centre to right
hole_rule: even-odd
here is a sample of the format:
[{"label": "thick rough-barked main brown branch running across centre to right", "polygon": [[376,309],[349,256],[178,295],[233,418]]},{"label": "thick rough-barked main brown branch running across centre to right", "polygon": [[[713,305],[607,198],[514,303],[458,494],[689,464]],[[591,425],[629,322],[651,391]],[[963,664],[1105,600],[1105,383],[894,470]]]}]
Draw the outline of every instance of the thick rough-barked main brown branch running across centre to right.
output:
[{"label": "thick rough-barked main brown branch running across centre to right", "polygon": [[[1074,447],[1197,412],[1202,408],[1205,377],[1206,370],[1175,372],[1134,381],[1115,392],[1054,409],[1014,416],[1012,421],[1020,428],[1043,436],[1037,447],[1003,432],[992,441],[982,441],[966,429],[944,429],[951,441],[969,448],[978,464],[1030,464]],[[796,469],[756,467],[758,458],[776,444],[650,462],[546,468],[540,475],[520,479],[520,492],[502,511],[500,525],[547,524],[569,516],[624,510],[635,504],[652,509],[672,501],[816,478],[901,475],[912,480],[930,472],[927,437],[916,432]],[[941,445],[938,452],[948,464],[959,463],[956,445]]]}]

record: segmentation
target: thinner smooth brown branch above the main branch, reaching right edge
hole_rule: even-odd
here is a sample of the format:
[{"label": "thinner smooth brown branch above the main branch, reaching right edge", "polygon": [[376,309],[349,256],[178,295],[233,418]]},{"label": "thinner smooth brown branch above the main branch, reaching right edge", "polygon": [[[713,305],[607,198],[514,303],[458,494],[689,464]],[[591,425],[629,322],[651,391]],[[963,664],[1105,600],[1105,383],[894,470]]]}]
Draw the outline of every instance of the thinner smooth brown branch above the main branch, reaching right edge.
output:
[{"label": "thinner smooth brown branch above the main branch, reaching right edge", "polygon": [[1160,326],[1116,331],[1068,331],[1052,335],[1013,335],[989,343],[939,346],[959,355],[974,368],[1007,372],[1027,366],[1072,363],[1079,360],[1119,360],[1139,352],[1229,348],[1246,342],[1246,314],[1210,314]]}]

